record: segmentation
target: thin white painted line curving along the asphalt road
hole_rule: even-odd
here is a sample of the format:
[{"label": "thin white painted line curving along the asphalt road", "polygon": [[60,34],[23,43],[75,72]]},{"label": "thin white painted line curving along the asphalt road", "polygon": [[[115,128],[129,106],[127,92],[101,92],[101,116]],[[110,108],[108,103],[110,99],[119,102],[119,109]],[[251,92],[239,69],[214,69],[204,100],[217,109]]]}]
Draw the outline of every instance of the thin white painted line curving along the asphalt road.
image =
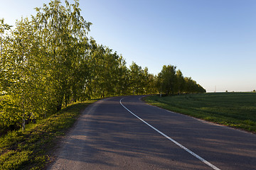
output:
[{"label": "thin white painted line curving along the asphalt road", "polygon": [[[124,97],[125,98],[125,97]],[[123,98],[122,98],[123,99]],[[127,110],[129,111],[128,108],[126,108],[123,104],[122,104],[122,99],[120,100],[120,104]],[[129,111],[129,113],[132,113],[132,111]],[[213,164],[210,164],[210,162],[206,161],[206,159],[203,159],[202,157],[200,157],[198,154],[195,154],[194,152],[192,152],[190,149],[184,147],[183,145],[181,145],[180,143],[176,142],[176,140],[171,139],[171,137],[165,135],[163,132],[161,132],[160,130],[154,128],[154,126],[150,125],[149,123],[146,123],[146,121],[144,121],[142,118],[139,118],[139,116],[135,115],[134,113],[132,113],[132,115],[134,115],[136,118],[138,118],[139,120],[142,120],[143,123],[145,123],[146,125],[148,125],[150,128],[156,130],[156,132],[159,132],[161,135],[163,135],[164,137],[166,137],[167,139],[171,140],[171,142],[174,142],[176,145],[178,145],[179,147],[181,147],[182,149],[186,150],[186,152],[192,154],[194,157],[196,157],[197,159],[201,160],[201,162],[207,164],[208,166],[210,166],[212,169],[215,170],[220,170],[218,169],[218,167],[214,166]]]}]

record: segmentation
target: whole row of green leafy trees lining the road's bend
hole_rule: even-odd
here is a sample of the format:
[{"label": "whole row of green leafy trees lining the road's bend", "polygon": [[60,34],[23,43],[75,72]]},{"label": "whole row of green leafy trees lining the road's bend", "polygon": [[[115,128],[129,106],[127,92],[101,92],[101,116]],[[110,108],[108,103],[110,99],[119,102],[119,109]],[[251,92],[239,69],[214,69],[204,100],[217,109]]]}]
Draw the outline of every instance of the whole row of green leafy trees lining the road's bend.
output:
[{"label": "whole row of green leafy trees lining the road's bend", "polygon": [[25,128],[88,98],[206,91],[172,65],[157,76],[134,62],[127,68],[122,55],[87,37],[91,23],[78,1],[55,0],[36,11],[14,30],[0,20],[0,128]]}]

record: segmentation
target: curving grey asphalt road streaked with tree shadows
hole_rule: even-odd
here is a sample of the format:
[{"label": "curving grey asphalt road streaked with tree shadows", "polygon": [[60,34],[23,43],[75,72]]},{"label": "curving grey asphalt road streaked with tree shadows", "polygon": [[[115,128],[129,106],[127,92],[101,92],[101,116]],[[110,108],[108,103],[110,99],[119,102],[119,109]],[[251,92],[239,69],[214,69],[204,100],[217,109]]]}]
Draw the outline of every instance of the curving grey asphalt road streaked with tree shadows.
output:
[{"label": "curving grey asphalt road streaked with tree shadows", "polygon": [[149,106],[140,97],[106,98],[86,108],[48,169],[256,169],[255,134]]}]

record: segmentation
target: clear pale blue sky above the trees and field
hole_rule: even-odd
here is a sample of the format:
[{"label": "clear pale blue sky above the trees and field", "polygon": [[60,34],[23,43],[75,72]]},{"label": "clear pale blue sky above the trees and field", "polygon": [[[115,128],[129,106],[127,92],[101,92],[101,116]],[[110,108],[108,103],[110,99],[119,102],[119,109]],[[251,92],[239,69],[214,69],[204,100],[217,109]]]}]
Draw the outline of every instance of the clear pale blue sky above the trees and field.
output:
[{"label": "clear pale blue sky above the trees and field", "polygon": [[[48,2],[0,0],[0,18],[14,25]],[[256,89],[255,0],[80,0],[80,8],[89,36],[127,66],[158,74],[172,64],[208,92]]]}]

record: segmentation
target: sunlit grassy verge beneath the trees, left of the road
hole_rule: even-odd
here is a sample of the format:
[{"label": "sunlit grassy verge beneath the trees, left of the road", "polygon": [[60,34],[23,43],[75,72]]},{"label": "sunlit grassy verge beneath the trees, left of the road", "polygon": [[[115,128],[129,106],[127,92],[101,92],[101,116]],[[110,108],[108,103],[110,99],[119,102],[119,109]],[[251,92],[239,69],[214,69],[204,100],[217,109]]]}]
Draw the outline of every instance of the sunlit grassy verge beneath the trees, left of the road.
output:
[{"label": "sunlit grassy verge beneath the trees, left of the road", "polygon": [[[95,100],[94,100],[95,101]],[[9,132],[0,138],[0,169],[43,169],[50,161],[49,151],[68,132],[90,103],[75,103],[26,130]]]}]

